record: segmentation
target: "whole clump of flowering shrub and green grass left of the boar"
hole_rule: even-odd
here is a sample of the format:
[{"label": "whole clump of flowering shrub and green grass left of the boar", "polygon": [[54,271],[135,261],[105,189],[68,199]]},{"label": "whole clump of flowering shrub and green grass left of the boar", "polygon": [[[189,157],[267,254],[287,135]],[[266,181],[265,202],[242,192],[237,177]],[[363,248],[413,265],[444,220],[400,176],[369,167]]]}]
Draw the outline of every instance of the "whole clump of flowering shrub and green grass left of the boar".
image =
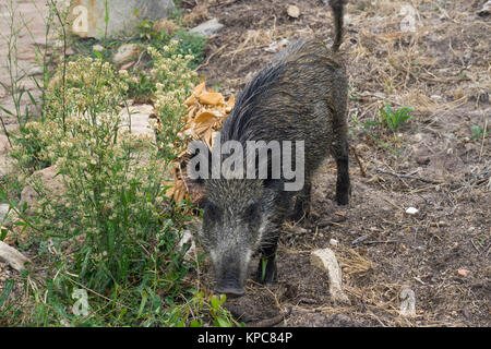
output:
[{"label": "whole clump of flowering shrub and green grass left of the boar", "polygon": [[[50,15],[65,21],[62,10]],[[21,120],[12,143],[22,170],[55,165],[63,190],[51,196],[38,177],[0,181],[0,200],[16,216],[0,240],[15,228],[15,236],[29,234],[17,248],[36,252],[36,263],[22,276],[25,293],[11,291],[11,281],[0,293],[0,325],[240,325],[223,306],[225,297],[195,292],[185,280],[200,262],[184,262],[188,246],[178,248],[190,207],[173,203],[161,184],[183,144],[183,101],[196,82],[191,67],[197,61],[190,52],[201,53],[204,46],[203,38],[141,38],[151,57],[142,70],[116,71],[107,59],[118,44],[104,39],[101,53],[86,41],[88,57],[65,59],[62,52],[52,79],[45,74],[41,115]],[[63,31],[61,39],[64,51]],[[155,98],[156,142],[130,132],[127,99],[139,95]],[[25,184],[38,193],[32,207],[17,204]],[[72,298],[80,290],[88,302],[82,315]]]}]

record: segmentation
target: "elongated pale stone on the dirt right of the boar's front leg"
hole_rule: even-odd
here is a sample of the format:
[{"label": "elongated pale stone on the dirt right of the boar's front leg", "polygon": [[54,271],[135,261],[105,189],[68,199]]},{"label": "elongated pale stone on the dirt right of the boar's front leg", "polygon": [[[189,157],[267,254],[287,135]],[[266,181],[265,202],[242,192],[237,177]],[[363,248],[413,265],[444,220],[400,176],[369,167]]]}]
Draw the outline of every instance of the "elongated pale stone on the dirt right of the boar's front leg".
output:
[{"label": "elongated pale stone on the dirt right of the boar's front leg", "polygon": [[333,300],[349,304],[349,299],[343,291],[342,287],[342,269],[337,263],[337,258],[333,250],[323,249],[313,251],[310,261],[313,266],[327,272],[330,277],[330,293]]}]

